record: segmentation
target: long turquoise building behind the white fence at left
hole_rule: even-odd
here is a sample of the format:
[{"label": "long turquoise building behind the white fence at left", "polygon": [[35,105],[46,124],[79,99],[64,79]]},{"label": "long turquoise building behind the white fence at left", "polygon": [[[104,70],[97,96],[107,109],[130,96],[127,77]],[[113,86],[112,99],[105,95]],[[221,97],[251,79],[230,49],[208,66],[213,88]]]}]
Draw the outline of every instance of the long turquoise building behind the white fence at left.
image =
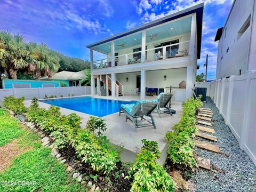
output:
[{"label": "long turquoise building behind the white fence at left", "polygon": [[37,80],[19,80],[19,79],[3,79],[3,89],[12,88],[38,88],[38,87],[59,87],[60,82],[37,81]]}]

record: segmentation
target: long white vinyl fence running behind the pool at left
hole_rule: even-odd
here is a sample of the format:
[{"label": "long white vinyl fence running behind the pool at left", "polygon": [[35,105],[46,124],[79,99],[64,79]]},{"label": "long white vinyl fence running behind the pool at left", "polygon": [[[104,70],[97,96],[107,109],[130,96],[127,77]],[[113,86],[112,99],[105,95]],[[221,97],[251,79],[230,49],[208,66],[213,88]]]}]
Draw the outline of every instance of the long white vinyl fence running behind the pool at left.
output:
[{"label": "long white vinyl fence running behind the pool at left", "polygon": [[9,95],[17,98],[25,97],[28,100],[35,97],[44,99],[45,95],[56,95],[57,97],[62,95],[63,97],[68,97],[68,95],[71,96],[72,94],[75,96],[91,94],[91,86],[0,89],[0,101]]}]

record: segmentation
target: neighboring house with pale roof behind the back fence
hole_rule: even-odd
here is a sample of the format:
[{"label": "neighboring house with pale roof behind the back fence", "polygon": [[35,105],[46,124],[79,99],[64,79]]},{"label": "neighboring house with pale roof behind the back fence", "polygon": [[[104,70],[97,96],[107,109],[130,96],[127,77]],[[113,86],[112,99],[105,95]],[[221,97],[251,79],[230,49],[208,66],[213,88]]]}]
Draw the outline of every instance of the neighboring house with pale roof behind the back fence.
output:
[{"label": "neighboring house with pale roof behind the back fence", "polygon": [[[85,77],[86,75],[83,70],[78,72],[61,71],[59,73],[55,73],[52,76],[51,81],[62,82],[62,84],[66,84],[66,86],[77,86],[79,81]],[[48,76],[42,77],[41,79],[50,80]]]}]

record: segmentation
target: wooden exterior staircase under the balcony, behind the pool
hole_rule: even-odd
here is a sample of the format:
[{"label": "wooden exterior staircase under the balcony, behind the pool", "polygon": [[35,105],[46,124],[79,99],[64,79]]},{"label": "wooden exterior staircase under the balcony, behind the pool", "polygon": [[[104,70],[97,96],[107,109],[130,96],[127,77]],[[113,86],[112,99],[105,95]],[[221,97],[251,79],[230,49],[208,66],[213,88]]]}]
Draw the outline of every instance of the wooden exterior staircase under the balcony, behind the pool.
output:
[{"label": "wooden exterior staircase under the balcony, behind the pool", "polygon": [[[101,75],[100,81],[103,82],[103,84],[105,85],[105,88],[107,89],[107,95],[108,95],[108,91],[111,91],[111,75]],[[123,96],[124,95],[124,86],[116,80],[115,83],[115,89],[116,89],[116,97],[119,96]]]}]

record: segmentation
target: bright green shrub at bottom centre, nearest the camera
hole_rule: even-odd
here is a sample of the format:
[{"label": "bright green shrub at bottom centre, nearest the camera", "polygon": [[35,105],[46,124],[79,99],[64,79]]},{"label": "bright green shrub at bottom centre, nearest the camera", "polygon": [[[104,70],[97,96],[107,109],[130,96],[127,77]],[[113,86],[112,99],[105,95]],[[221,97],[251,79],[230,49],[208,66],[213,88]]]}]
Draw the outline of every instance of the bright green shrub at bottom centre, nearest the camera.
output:
[{"label": "bright green shrub at bottom centre, nearest the camera", "polygon": [[143,146],[137,155],[135,164],[126,179],[133,179],[130,191],[173,191],[174,181],[163,166],[156,162],[160,157],[156,141],[142,140]]}]

